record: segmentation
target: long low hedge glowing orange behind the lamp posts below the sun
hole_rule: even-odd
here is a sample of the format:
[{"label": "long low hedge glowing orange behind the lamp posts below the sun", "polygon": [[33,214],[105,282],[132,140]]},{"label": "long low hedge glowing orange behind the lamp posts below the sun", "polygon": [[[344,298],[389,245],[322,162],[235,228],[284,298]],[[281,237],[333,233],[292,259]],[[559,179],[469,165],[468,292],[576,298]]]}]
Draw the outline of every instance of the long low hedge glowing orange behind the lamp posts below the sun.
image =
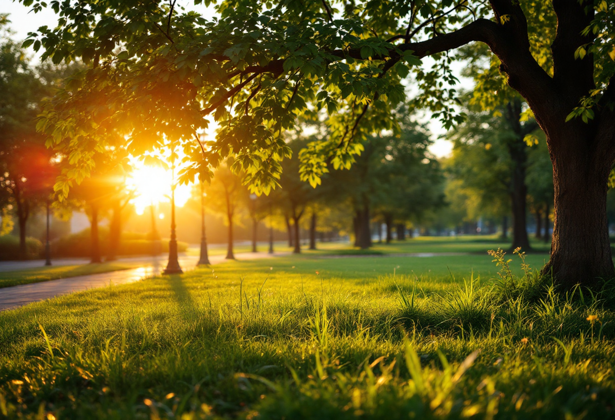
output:
[{"label": "long low hedge glowing orange behind the lamp posts below the sun", "polygon": [[[99,228],[100,254],[107,255],[109,250],[109,229]],[[152,254],[154,243],[146,239],[146,235],[136,232],[122,233],[119,249],[116,255],[149,255]],[[57,257],[90,257],[91,252],[90,229],[87,228],[72,235],[56,239],[51,244],[51,255]],[[169,252],[169,241],[162,240],[158,247],[160,252]],[[178,242],[179,252],[185,252],[188,244]]]}]

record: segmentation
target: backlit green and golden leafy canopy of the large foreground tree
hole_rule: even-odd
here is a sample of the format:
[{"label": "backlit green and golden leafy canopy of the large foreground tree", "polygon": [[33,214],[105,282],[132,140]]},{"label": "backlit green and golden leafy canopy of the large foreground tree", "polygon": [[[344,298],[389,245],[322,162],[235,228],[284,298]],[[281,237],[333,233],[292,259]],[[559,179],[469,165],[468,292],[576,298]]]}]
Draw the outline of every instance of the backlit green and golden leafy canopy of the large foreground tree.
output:
[{"label": "backlit green and golden leafy canopy of the large foreground tree", "polygon": [[[290,154],[284,131],[321,119],[331,136],[301,153],[303,179],[315,185],[328,165],[348,168],[368,134],[397,130],[391,109],[407,98],[402,80],[416,87],[411,106],[431,109],[447,127],[459,122],[450,68],[456,57],[448,51],[477,39],[485,25],[508,23],[499,13],[495,23],[485,21],[488,5],[468,0],[228,0],[216,5],[213,20],[175,0],[21,1],[60,16],[56,28],[39,28],[25,45],[55,63],[89,64],[39,120],[49,146],[65,150],[76,168],[57,190],[83,177],[95,154],[126,145],[144,155],[171,140],[186,155],[183,182],[210,179],[232,155],[245,182],[268,193]],[[554,13],[543,3],[522,7],[531,51],[549,68],[552,31],[545,28]],[[587,46],[603,74],[598,91],[613,74],[612,6],[593,5],[596,20],[587,29],[601,35]],[[199,133],[213,121],[216,140],[201,144]]]}]

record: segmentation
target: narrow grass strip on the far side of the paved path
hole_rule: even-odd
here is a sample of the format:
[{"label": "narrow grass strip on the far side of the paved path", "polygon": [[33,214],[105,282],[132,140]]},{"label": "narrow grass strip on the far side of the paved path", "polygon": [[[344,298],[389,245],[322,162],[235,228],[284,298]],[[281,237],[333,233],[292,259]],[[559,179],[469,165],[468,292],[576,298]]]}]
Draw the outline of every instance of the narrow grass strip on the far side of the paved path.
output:
[{"label": "narrow grass strip on the far side of the paved path", "polygon": [[[137,266],[129,262],[105,262],[100,264],[58,265],[26,268],[18,271],[0,271],[0,287],[18,284],[38,283],[86,274],[108,273],[109,271],[128,270]],[[1,293],[1,292],[0,292]]]}]

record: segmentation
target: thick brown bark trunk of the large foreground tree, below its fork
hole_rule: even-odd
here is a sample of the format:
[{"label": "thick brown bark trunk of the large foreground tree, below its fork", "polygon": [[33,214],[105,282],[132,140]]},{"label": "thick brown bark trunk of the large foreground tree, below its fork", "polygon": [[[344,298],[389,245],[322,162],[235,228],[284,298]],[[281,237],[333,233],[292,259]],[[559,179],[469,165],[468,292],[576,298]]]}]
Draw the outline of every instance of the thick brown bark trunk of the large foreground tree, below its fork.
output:
[{"label": "thick brown bark trunk of the large foreground tree, below its fork", "polygon": [[[593,142],[600,140],[606,139]],[[593,286],[615,274],[606,225],[611,161],[582,138],[565,141],[566,145],[558,145],[560,150],[552,155],[554,227],[551,258],[542,272],[553,274],[558,284],[571,289],[579,283]]]}]

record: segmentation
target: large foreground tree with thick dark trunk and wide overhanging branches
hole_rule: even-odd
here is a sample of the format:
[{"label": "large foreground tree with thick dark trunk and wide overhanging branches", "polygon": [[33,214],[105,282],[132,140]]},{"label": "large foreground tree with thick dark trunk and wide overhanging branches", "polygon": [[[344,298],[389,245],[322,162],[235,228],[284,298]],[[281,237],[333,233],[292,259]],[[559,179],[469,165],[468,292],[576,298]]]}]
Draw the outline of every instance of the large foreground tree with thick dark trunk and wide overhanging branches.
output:
[{"label": "large foreground tree with thick dark trunk and wide overhanging branches", "polygon": [[[193,163],[186,179],[210,176],[232,151],[253,189],[268,193],[288,156],[283,131],[296,115],[327,109],[332,135],[302,159],[303,177],[315,185],[329,163],[350,165],[368,134],[394,128],[390,111],[405,99],[400,79],[408,65],[418,87],[413,103],[447,127],[460,121],[448,52],[482,42],[493,54],[490,69],[530,106],[554,161],[554,243],[544,273],[566,287],[615,274],[606,228],[615,158],[609,2],[229,0],[210,22],[175,2],[86,3],[50,3],[60,24],[25,42],[43,47],[43,59],[91,63],[39,124],[50,143],[71,142],[84,157],[73,161],[76,168],[104,149],[105,130],[121,127],[133,154],[163,136],[183,139]],[[421,63],[425,56],[435,64]],[[204,150],[194,133],[208,115],[221,128]],[[65,174],[58,188],[83,173]]]}]

